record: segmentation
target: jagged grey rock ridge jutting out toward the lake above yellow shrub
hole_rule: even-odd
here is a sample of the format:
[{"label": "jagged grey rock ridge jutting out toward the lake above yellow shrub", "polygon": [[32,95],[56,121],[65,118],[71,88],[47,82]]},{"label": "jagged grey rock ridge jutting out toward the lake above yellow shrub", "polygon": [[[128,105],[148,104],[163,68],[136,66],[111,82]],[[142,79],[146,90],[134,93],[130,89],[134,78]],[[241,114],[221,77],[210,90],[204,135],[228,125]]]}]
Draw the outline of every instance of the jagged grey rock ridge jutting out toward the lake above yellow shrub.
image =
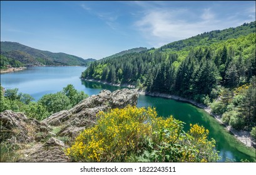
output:
[{"label": "jagged grey rock ridge jutting out toward the lake above yellow shrub", "polygon": [[69,136],[73,140],[81,130],[92,126],[96,122],[96,114],[99,111],[108,111],[113,108],[125,108],[128,104],[135,106],[138,101],[138,93],[135,89],[121,89],[111,93],[103,90],[98,95],[90,96],[81,101],[68,111],[60,111],[43,123],[50,126],[61,126],[58,136]]}]

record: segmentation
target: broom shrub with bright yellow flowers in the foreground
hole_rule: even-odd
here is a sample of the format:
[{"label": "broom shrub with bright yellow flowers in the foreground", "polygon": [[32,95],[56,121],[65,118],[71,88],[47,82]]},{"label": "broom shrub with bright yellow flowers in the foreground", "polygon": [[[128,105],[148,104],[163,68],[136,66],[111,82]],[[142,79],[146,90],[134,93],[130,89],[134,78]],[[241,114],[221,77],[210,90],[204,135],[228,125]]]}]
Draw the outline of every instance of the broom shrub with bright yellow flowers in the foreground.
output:
[{"label": "broom shrub with bright yellow flowers in the foreground", "polygon": [[100,112],[95,126],[85,129],[66,149],[72,161],[186,162],[216,161],[215,142],[197,124],[188,133],[172,116],[163,119],[155,109],[128,106]]}]

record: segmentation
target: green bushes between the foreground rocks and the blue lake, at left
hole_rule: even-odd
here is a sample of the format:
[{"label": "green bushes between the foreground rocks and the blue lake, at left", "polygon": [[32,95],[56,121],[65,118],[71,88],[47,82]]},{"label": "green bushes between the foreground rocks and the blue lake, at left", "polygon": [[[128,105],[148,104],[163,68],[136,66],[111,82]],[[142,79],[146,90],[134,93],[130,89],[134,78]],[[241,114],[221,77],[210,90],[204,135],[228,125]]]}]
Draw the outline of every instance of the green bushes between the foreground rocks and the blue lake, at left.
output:
[{"label": "green bushes between the foreground rocks and the blue lake, at left", "polygon": [[43,120],[53,113],[70,109],[87,97],[83,91],[77,91],[68,84],[61,92],[46,94],[38,102],[31,102],[33,98],[29,94],[18,94],[17,88],[4,91],[1,86],[0,111],[24,112],[28,118]]}]

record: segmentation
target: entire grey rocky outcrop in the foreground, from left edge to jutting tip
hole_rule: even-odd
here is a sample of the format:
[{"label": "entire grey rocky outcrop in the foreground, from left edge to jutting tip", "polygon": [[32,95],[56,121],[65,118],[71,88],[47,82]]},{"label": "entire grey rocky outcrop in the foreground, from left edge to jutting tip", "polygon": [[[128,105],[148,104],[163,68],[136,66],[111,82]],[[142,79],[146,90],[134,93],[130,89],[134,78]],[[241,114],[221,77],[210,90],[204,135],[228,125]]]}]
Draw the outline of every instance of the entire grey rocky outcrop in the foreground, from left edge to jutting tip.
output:
[{"label": "entire grey rocky outcrop in the foreground, from left edge to jutting tip", "polygon": [[[68,111],[55,113],[43,121],[28,119],[22,113],[1,113],[1,142],[21,146],[20,162],[67,162],[64,149],[68,148],[80,131],[96,123],[99,111],[135,106],[135,89],[121,89],[111,93],[103,90],[90,96]],[[62,140],[62,141],[61,141]],[[24,146],[25,145],[25,146]]]}]

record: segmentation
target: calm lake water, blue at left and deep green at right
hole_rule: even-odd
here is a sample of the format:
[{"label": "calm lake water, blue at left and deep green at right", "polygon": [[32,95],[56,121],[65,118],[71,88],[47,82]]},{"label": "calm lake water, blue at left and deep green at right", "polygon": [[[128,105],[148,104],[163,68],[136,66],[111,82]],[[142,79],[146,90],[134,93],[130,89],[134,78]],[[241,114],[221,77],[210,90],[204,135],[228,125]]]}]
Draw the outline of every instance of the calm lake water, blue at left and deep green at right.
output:
[{"label": "calm lake water, blue at left and deep green at right", "polygon": [[[67,84],[73,84],[76,89],[89,95],[98,94],[102,89],[110,91],[120,89],[106,84],[81,81],[79,76],[84,69],[86,68],[28,68],[15,73],[1,74],[1,85],[4,88],[19,88],[19,92],[31,94],[36,100],[44,94],[61,91]],[[244,146],[212,116],[192,104],[140,95],[137,106],[154,106],[160,116],[174,116],[174,118],[185,122],[185,131],[188,130],[190,123],[203,125],[210,131],[209,137],[214,138],[217,142],[216,149],[222,156],[220,161],[225,161],[226,159],[231,159],[232,161],[240,161],[241,159],[255,160],[255,149]]]}]

